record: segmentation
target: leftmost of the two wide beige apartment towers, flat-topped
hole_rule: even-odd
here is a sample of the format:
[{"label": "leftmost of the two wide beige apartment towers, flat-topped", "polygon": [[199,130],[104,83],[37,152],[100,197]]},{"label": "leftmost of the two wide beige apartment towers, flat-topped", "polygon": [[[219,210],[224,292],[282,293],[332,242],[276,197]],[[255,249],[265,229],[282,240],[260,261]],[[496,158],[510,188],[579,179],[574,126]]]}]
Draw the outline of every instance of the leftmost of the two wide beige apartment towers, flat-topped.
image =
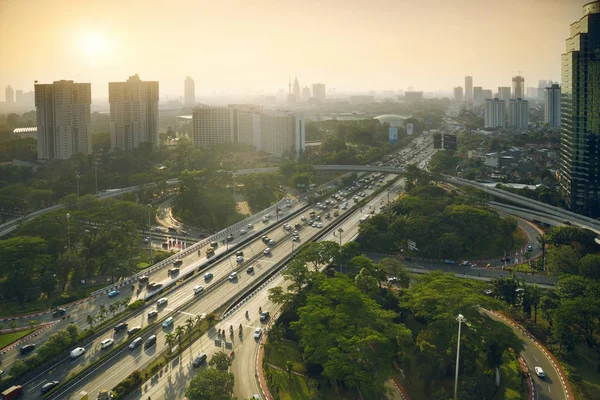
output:
[{"label": "leftmost of the two wide beige apartment towers, flat-topped", "polygon": [[92,85],[73,81],[35,84],[38,160],[92,152]]}]

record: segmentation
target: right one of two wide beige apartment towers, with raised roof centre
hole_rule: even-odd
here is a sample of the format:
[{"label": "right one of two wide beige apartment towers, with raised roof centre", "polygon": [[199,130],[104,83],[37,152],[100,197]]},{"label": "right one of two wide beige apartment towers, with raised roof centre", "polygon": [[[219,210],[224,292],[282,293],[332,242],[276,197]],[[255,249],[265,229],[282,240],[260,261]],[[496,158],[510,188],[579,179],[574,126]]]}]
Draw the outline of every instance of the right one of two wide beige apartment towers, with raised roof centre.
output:
[{"label": "right one of two wide beige apartment towers, with raised roof centre", "polygon": [[142,81],[137,74],[126,82],[108,83],[113,149],[133,150],[144,142],[159,145],[158,96],[158,81]]}]

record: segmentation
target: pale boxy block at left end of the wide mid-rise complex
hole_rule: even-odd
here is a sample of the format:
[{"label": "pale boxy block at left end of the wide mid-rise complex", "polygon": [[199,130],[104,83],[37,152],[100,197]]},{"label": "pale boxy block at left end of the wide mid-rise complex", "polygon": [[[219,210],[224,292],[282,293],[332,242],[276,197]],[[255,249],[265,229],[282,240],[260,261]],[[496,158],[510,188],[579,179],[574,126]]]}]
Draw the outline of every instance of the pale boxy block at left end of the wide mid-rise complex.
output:
[{"label": "pale boxy block at left end of the wide mid-rise complex", "polygon": [[194,146],[214,146],[233,142],[233,111],[232,107],[194,108],[192,111]]}]

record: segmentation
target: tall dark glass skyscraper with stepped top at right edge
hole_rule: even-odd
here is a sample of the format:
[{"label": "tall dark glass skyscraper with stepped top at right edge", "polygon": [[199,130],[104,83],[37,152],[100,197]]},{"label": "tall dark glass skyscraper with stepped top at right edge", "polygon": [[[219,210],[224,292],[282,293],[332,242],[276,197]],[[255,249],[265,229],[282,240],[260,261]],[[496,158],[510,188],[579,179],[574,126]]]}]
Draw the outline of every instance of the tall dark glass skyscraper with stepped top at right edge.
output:
[{"label": "tall dark glass skyscraper with stepped top at right edge", "polygon": [[559,183],[568,207],[600,216],[600,1],[583,6],[562,55]]}]

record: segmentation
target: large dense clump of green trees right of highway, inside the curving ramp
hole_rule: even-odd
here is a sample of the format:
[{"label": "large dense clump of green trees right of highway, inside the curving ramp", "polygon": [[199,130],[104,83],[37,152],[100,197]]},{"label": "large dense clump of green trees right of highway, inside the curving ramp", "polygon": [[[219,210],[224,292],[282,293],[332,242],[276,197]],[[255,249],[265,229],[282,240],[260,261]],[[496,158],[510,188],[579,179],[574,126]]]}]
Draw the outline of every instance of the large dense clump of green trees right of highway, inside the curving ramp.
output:
[{"label": "large dense clump of green trees right of highway, inside the curving ramp", "polygon": [[[359,251],[356,243],[341,249],[334,242],[311,243],[289,263],[286,285],[269,291],[283,310],[270,330],[266,357],[289,347],[286,341],[296,342],[301,370],[316,381],[307,385],[313,399],[385,398],[384,382],[397,373],[394,363],[406,374],[411,396],[447,399],[453,391],[455,318],[462,313],[468,323],[461,337],[459,397],[495,398],[495,368],[512,362],[509,349],[518,352],[522,345],[509,327],[482,311],[501,306],[484,294],[485,284],[442,273],[411,278],[398,260],[373,263]],[[336,272],[340,267],[345,274]],[[295,363],[290,361],[290,370],[298,369]],[[265,377],[271,394],[285,398],[280,377],[268,368]]]}]

